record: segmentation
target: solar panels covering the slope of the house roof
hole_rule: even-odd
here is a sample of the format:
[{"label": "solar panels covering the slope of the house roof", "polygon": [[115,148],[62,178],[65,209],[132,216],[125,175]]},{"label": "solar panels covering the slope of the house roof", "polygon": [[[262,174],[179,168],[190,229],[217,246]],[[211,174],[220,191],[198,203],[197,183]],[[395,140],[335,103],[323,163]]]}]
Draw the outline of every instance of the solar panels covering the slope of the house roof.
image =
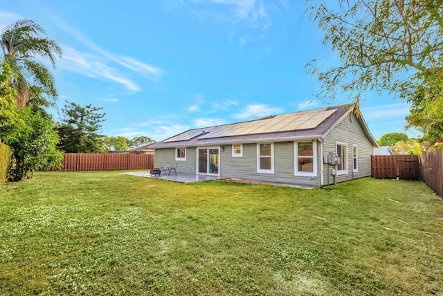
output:
[{"label": "solar panels covering the slope of the house roof", "polygon": [[[192,129],[174,136],[165,142],[190,140],[199,136],[199,139],[219,138],[228,136],[243,136],[254,133],[273,133],[278,131],[298,131],[301,129],[314,129],[330,115],[333,110],[316,109],[276,115],[273,118],[253,120],[226,124],[218,127],[206,127],[204,129]],[[201,136],[200,136],[201,135]]]}]

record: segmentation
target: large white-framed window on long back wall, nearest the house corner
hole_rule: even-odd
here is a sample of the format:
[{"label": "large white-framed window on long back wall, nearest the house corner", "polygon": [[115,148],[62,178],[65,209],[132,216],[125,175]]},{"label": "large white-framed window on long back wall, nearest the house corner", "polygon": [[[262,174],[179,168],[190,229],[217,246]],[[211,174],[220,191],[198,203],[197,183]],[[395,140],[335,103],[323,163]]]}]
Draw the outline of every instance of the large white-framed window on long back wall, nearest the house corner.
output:
[{"label": "large white-framed window on long back wall, nearest the house corner", "polygon": [[317,142],[294,142],[294,175],[317,176]]}]

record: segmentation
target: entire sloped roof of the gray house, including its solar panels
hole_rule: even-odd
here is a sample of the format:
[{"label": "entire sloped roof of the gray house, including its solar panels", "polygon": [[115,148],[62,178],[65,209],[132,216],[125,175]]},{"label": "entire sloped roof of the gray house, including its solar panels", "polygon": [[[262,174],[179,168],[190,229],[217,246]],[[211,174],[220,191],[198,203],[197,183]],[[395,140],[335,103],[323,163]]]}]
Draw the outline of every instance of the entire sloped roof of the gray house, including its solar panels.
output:
[{"label": "entire sloped roof of the gray house, including its solar panels", "polygon": [[[287,141],[325,138],[336,124],[349,118],[350,106],[341,105],[281,115],[259,120],[190,129],[177,136],[149,145],[151,149],[223,145],[262,141]],[[362,116],[357,119],[363,132],[378,147]]]}]

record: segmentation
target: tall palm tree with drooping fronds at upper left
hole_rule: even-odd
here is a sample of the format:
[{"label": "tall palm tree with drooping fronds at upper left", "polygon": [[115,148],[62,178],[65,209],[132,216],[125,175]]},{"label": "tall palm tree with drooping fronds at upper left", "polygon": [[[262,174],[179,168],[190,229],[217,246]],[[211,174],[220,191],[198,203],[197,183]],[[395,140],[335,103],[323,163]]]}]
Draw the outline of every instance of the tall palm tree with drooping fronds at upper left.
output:
[{"label": "tall palm tree with drooping fronds at upper left", "polygon": [[49,59],[55,66],[55,57],[62,57],[62,48],[42,34],[45,34],[42,26],[30,19],[19,19],[1,33],[3,57],[16,75],[9,84],[17,91],[15,98],[19,108],[25,107],[30,98],[29,81],[46,95],[57,98],[53,75],[35,57]]}]

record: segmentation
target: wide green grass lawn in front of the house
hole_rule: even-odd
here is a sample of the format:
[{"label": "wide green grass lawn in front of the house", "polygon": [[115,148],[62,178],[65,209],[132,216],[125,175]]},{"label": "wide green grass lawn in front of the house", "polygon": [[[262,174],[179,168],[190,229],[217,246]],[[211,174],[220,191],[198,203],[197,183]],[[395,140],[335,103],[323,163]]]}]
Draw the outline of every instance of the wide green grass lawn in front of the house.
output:
[{"label": "wide green grass lawn in front of the house", "polygon": [[0,294],[443,295],[442,236],[416,181],[39,172],[0,185]]}]

